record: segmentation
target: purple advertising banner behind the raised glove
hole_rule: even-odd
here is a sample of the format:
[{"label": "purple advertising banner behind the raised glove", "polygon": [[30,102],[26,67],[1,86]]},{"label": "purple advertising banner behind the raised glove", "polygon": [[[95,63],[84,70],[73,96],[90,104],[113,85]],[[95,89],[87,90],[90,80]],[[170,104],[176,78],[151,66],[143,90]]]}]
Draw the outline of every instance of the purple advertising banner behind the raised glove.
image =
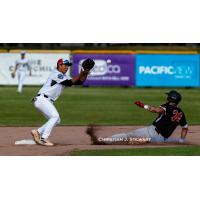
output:
[{"label": "purple advertising banner behind the raised glove", "polygon": [[85,81],[87,86],[133,86],[135,84],[134,54],[74,54],[73,75],[77,76],[86,58],[95,61],[95,67]]}]

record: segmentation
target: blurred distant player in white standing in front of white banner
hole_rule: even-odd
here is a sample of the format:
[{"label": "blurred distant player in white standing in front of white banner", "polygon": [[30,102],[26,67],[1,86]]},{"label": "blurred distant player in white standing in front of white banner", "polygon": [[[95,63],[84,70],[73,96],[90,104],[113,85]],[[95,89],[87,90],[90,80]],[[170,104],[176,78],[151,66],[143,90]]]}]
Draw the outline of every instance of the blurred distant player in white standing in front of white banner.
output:
[{"label": "blurred distant player in white standing in front of white banner", "polygon": [[17,78],[18,78],[17,92],[19,94],[22,93],[23,82],[24,82],[27,70],[29,70],[29,75],[31,76],[31,67],[30,67],[29,61],[25,57],[25,55],[26,55],[26,52],[22,51],[21,58],[16,61],[15,70],[13,72],[13,77],[15,77],[15,73],[17,73]]}]

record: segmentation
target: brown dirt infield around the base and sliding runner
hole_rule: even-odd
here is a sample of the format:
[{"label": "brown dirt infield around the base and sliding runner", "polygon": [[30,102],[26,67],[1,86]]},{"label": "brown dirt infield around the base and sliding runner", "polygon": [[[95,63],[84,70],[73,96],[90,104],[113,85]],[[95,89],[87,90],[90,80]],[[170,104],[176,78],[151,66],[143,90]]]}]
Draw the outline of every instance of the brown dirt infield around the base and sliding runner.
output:
[{"label": "brown dirt infield around the base and sliding runner", "polygon": [[[141,126],[101,126],[99,136],[110,136],[112,133],[128,132]],[[54,147],[39,145],[15,145],[15,141],[32,139],[30,131],[35,127],[0,127],[0,155],[1,156],[61,156],[73,150],[82,149],[119,149],[143,147],[178,146],[175,144],[143,144],[143,145],[91,145],[86,135],[86,126],[56,127],[50,140],[56,143]],[[180,131],[177,129],[176,133]],[[173,137],[178,137],[173,134]],[[189,145],[200,145],[200,126],[191,126],[188,133]]]}]

